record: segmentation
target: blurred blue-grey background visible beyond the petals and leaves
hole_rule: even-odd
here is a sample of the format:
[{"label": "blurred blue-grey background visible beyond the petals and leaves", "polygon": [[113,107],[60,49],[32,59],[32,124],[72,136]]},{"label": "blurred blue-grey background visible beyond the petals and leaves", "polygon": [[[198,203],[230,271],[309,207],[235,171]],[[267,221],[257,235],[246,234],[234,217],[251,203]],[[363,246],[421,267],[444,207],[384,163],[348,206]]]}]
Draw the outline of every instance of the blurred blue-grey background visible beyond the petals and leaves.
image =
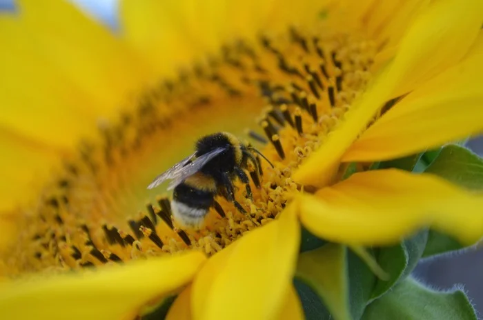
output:
[{"label": "blurred blue-grey background visible beyond the petals and leaves", "polygon": [[[101,21],[113,32],[118,27],[117,0],[70,0],[90,17]],[[0,0],[0,10],[12,10],[12,0]],[[5,50],[5,48],[3,48]],[[468,143],[483,156],[483,137]],[[437,289],[464,288],[477,309],[478,318],[483,314],[483,250],[466,250],[457,254],[423,261],[414,271],[415,277]]]}]

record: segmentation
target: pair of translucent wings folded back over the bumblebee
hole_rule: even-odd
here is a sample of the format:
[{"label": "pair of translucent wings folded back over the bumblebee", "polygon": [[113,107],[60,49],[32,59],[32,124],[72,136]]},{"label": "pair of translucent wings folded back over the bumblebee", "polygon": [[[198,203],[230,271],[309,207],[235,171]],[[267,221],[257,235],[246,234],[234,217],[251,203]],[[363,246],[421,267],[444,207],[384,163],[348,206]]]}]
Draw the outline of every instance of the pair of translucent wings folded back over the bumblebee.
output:
[{"label": "pair of translucent wings folded back over the bumblebee", "polygon": [[198,172],[204,165],[206,165],[206,163],[208,163],[208,161],[224,150],[226,150],[226,148],[216,148],[206,154],[201,154],[199,157],[195,157],[196,153],[191,154],[190,157],[183,159],[166,172],[159,174],[159,176],[157,176],[148,186],[148,189],[155,188],[166,180],[172,180],[168,186],[168,190],[175,188],[179,183]]}]

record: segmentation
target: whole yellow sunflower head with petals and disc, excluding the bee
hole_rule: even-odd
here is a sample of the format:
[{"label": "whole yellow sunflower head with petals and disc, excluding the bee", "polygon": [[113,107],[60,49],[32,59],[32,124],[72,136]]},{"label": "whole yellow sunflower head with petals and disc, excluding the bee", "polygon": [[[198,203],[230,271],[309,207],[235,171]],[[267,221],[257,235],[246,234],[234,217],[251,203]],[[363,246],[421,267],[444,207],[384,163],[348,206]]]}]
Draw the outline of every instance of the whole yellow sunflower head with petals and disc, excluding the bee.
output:
[{"label": "whole yellow sunflower head with petals and disc, excluding the bee", "polygon": [[[170,319],[302,319],[300,223],[353,248],[483,236],[477,194],[368,170],[483,131],[481,1],[120,6],[117,34],[63,1],[0,16],[6,318],[132,319],[178,294]],[[220,199],[185,230],[146,186],[217,131],[275,166],[253,201],[238,188],[248,214]]]}]

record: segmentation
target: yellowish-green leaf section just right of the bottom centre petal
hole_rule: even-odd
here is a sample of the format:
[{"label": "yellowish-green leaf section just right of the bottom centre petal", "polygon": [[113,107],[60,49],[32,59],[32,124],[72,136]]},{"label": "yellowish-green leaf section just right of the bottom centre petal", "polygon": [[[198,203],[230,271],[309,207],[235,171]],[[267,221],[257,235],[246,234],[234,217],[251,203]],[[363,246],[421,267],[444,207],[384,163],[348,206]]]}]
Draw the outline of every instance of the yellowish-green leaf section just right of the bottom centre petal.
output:
[{"label": "yellowish-green leaf section just right of the bottom centre petal", "polygon": [[344,246],[328,243],[300,254],[295,277],[314,290],[335,319],[351,319]]}]

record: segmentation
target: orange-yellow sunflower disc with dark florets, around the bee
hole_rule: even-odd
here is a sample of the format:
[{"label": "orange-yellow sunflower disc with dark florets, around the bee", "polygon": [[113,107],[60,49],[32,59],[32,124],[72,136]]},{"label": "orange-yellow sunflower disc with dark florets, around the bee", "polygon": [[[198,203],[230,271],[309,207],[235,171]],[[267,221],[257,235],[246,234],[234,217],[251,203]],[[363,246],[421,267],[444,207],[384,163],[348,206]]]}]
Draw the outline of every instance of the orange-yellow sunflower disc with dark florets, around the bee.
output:
[{"label": "orange-yellow sunflower disc with dark florets, around the bee", "polygon": [[[211,255],[277,219],[293,194],[308,187],[293,181],[293,170],[344,121],[371,79],[373,43],[321,33],[290,28],[275,37],[228,43],[176,79],[162,79],[146,90],[116,121],[99,124],[99,139],[83,141],[77,156],[52,174],[37,202],[21,212],[19,239],[0,270],[16,277],[184,250]],[[201,123],[223,112],[233,123],[237,114],[249,115],[252,121],[239,138],[262,150],[274,168],[261,161],[258,178],[255,166],[248,167],[253,200],[235,183],[245,214],[217,197],[204,227],[184,230],[172,218],[170,194],[154,199],[146,194],[154,176],[144,174],[144,167],[183,158],[172,154],[192,130],[185,119]]]}]

